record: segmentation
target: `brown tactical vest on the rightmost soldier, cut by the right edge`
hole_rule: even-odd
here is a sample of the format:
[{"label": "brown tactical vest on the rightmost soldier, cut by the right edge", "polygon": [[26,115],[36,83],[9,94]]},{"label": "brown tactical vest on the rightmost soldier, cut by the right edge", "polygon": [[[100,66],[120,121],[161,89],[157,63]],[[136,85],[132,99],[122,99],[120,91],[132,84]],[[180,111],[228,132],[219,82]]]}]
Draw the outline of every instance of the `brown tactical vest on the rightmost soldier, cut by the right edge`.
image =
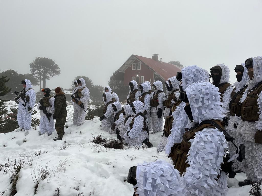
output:
[{"label": "brown tactical vest on the rightmost soldier, cut by the right edge", "polygon": [[255,122],[259,118],[259,108],[258,108],[258,95],[262,90],[262,84],[254,88],[252,92],[247,95],[245,101],[241,105],[241,119],[244,121]]}]

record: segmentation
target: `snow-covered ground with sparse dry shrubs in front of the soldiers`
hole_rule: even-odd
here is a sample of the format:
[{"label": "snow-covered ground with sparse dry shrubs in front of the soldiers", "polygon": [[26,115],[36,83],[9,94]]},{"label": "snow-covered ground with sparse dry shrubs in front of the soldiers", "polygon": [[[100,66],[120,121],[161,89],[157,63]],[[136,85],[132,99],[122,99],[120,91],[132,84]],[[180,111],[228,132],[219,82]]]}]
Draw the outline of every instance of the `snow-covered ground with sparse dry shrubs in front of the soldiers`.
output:
[{"label": "snow-covered ground with sparse dry shrubs in front of the soldiers", "polygon": [[[39,136],[39,127],[36,127],[36,130],[31,129],[28,135],[17,130],[0,134],[0,163],[4,164],[8,159],[13,162],[19,158],[25,160],[24,167],[19,172],[15,195],[53,196],[58,193],[55,190],[59,188],[60,196],[75,196],[80,195],[81,192],[83,192],[82,196],[131,196],[132,185],[125,182],[131,166],[159,159],[169,161],[164,152],[157,154],[156,147],[162,133],[150,135],[154,148],[106,149],[91,143],[90,139],[99,134],[105,138],[116,138],[116,135],[104,132],[99,118],[88,120],[79,127],[72,125],[73,107],[69,102],[67,110],[66,124],[69,127],[65,129],[62,141],[53,141],[57,136],[55,132],[50,137],[46,134]],[[36,117],[39,118],[37,114]],[[25,140],[26,142],[23,142]],[[42,154],[35,155],[40,150]],[[32,165],[27,163],[30,159],[33,159]],[[49,171],[49,175],[44,180],[38,177],[41,167]],[[11,170],[12,168],[10,166]],[[34,173],[39,181],[36,194],[32,179]],[[9,189],[12,186],[10,176],[10,172],[0,171],[0,193],[1,190],[8,189],[3,196],[10,195]],[[238,187],[238,181],[244,179],[243,173],[237,174],[234,179],[229,179],[228,195],[249,195],[250,186]]]}]

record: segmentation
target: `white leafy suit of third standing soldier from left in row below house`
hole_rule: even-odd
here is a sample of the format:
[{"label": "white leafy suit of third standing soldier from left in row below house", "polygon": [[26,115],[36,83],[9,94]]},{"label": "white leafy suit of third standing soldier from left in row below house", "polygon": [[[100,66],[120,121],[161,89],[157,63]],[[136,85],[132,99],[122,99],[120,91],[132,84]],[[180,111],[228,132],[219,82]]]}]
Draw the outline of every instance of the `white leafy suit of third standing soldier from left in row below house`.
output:
[{"label": "white leafy suit of third standing soldier from left in row below house", "polygon": [[[151,99],[151,122],[153,133],[156,133],[163,131],[163,101],[165,100],[165,93],[163,93],[162,82],[157,80],[153,85],[156,86],[156,89]],[[161,115],[160,118],[158,115]]]}]

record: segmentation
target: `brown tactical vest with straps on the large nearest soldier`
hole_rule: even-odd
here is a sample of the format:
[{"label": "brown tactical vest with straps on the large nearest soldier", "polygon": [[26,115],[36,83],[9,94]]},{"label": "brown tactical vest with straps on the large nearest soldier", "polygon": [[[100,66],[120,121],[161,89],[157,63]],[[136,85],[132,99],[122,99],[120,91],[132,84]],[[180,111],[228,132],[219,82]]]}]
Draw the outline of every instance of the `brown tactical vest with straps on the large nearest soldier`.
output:
[{"label": "brown tactical vest with straps on the large nearest soldier", "polygon": [[[221,122],[217,120],[213,120],[213,121],[215,121],[220,127],[223,128]],[[168,157],[172,158],[174,162],[174,168],[177,169],[181,175],[185,172],[185,169],[189,167],[189,164],[186,163],[187,155],[191,147],[191,143],[189,142],[189,140],[195,137],[196,132],[201,131],[202,129],[208,127],[215,128],[214,125],[209,123],[203,123],[194,126],[193,128],[189,129],[183,134],[183,140],[181,143],[175,143],[174,146],[171,148],[171,153],[168,155]]]}]

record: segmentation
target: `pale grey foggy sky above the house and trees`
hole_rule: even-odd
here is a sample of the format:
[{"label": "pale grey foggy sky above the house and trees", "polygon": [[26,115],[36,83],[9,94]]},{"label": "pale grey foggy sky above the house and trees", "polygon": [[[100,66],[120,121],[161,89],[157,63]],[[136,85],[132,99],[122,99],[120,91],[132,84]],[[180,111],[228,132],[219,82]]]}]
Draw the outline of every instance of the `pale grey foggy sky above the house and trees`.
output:
[{"label": "pale grey foggy sky above the house and trees", "polygon": [[0,0],[0,69],[25,74],[48,57],[61,74],[47,87],[70,88],[77,75],[106,86],[132,54],[159,54],[208,71],[225,63],[233,83],[237,64],[262,55],[261,8],[259,0]]}]

